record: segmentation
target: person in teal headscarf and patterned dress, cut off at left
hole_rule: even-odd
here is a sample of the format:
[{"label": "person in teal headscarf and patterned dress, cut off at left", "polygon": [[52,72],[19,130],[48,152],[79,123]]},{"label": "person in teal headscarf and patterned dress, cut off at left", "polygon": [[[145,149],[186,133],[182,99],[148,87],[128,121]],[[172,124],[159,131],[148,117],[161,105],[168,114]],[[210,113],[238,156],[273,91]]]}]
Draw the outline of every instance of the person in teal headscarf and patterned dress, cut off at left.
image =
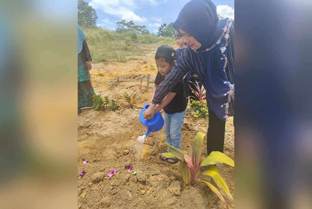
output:
[{"label": "person in teal headscarf and patterned dress, cut off at left", "polygon": [[81,107],[93,106],[95,92],[91,84],[89,70],[91,70],[91,55],[85,40],[85,34],[78,25],[78,114]]}]

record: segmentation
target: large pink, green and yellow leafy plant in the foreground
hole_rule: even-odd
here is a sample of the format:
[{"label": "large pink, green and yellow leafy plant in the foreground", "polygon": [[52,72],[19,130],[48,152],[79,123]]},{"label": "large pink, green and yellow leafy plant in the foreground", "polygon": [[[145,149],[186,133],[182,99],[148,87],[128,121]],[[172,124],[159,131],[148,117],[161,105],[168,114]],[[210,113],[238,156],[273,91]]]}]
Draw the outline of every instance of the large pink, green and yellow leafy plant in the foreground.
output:
[{"label": "large pink, green and yellow leafy plant in the foreground", "polygon": [[[202,141],[205,135],[206,134],[202,132],[197,132],[192,146],[192,158],[190,158],[186,152],[183,152],[182,150],[175,148],[167,143],[163,144],[168,146],[170,153],[161,153],[161,155],[165,158],[176,157],[180,160],[180,172],[185,184],[195,185],[197,183],[197,178],[204,174],[210,176],[216,183],[217,187],[223,189],[227,196],[230,199],[233,199],[227,183],[223,179],[220,171],[217,169],[216,164],[225,163],[234,167],[234,161],[227,155],[217,151],[211,152],[207,158],[201,159]],[[227,202],[217,187],[205,180],[199,182],[206,183],[212,192],[214,192],[226,205],[227,209],[229,208]]]}]

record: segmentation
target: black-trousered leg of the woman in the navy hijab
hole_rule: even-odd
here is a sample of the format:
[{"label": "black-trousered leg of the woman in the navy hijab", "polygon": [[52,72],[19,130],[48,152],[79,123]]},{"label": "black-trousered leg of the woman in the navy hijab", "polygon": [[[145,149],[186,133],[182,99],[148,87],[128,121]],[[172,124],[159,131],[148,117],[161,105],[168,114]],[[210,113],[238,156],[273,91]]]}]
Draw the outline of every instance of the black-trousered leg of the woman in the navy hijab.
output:
[{"label": "black-trousered leg of the woman in the navy hijab", "polygon": [[212,151],[223,152],[225,122],[219,120],[212,110],[208,110],[207,154]]}]

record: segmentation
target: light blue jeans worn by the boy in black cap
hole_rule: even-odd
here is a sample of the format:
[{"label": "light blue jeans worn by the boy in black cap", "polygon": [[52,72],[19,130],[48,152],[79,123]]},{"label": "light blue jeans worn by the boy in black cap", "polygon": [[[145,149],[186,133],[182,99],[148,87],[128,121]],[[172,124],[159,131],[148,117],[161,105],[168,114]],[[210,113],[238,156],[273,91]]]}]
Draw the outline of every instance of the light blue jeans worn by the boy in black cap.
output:
[{"label": "light blue jeans worn by the boy in black cap", "polygon": [[175,148],[181,148],[181,129],[186,110],[181,113],[167,114],[163,112],[164,130],[167,143]]}]

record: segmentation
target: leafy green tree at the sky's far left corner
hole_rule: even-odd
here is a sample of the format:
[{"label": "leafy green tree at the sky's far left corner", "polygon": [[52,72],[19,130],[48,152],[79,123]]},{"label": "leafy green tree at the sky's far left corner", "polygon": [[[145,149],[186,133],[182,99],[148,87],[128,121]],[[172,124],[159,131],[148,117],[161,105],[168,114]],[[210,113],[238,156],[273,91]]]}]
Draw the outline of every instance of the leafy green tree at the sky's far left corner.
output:
[{"label": "leafy green tree at the sky's far left corner", "polygon": [[88,2],[78,0],[78,25],[80,27],[96,27],[97,15]]}]

